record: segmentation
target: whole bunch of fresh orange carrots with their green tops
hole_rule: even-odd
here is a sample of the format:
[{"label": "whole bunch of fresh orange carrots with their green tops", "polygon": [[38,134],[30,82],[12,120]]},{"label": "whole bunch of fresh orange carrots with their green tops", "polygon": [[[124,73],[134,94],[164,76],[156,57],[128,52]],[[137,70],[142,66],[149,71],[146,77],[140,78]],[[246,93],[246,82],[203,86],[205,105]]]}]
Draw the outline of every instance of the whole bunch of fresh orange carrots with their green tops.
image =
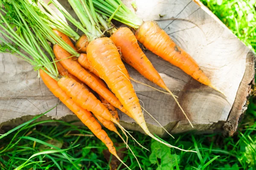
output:
[{"label": "whole bunch of fresh orange carrots with their green tops", "polygon": [[[114,125],[116,124],[127,138],[126,134],[131,136],[119,124],[116,108],[134,119],[153,139],[169,147],[175,147],[155,137],[148,130],[143,116],[145,109],[140,106],[131,84],[131,80],[138,81],[130,77],[122,60],[167,91],[161,92],[172,95],[182,111],[176,96],[172,94],[143,53],[137,40],[198,82],[216,88],[195,60],[178,47],[156,22],[143,22],[121,0],[68,0],[68,2],[79,21],[74,19],[57,0],[51,0],[66,20],[83,32],[81,37],[43,0],[38,0],[38,3],[30,0],[3,1],[5,9],[2,8],[3,14],[0,13],[0,33],[9,41],[0,38],[4,43],[2,51],[16,53],[18,57],[33,65],[49,90],[73,111],[118,159],[113,142],[99,124],[100,122],[117,133],[130,149],[128,141],[122,138]],[[112,19],[136,30],[135,35],[128,27],[117,29],[111,23]],[[76,45],[73,45],[70,38],[76,41]],[[21,53],[13,44],[26,54]],[[91,90],[99,94],[99,99],[91,93]],[[186,116],[184,111],[183,113]],[[190,121],[189,123],[192,125]],[[132,150],[131,153],[133,154]],[[122,162],[121,159],[119,160]],[[139,162],[138,164],[140,165]]]}]

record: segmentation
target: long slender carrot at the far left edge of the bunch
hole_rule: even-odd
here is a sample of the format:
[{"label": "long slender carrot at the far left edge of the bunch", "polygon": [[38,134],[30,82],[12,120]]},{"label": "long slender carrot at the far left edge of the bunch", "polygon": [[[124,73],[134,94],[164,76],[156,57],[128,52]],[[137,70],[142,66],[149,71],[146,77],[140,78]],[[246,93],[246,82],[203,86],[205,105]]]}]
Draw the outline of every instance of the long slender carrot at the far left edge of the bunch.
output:
[{"label": "long slender carrot at the far left edge of the bunch", "polygon": [[[119,161],[125,164],[117,155],[116,149],[113,146],[113,142],[108,137],[108,134],[102,130],[101,125],[96,121],[93,115],[89,111],[84,110],[79,105],[77,105],[73,99],[70,99],[70,97],[67,96],[63,90],[61,90],[61,88],[58,86],[58,82],[55,79],[52,79],[52,77],[46,74],[42,69],[40,69],[39,72],[41,79],[44,81],[44,84],[47,86],[47,88],[49,88],[49,90],[56,97],[58,97],[58,99],[60,99],[64,105],[66,105],[73,113],[75,113],[81,122],[83,122],[84,125],[86,125],[97,138],[105,143],[110,153],[112,153],[114,156],[116,156],[117,159],[119,159]],[[126,164],[125,166],[128,167]],[[128,167],[128,169],[130,168]]]}]

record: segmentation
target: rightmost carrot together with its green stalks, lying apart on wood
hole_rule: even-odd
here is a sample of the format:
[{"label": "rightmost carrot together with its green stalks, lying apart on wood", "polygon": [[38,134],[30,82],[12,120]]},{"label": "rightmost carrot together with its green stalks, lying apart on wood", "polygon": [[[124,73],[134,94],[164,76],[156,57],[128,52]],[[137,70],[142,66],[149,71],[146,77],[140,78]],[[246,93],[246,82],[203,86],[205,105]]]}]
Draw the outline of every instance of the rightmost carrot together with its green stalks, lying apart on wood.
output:
[{"label": "rightmost carrot together with its green stalks, lying apart on wood", "polygon": [[[113,16],[114,20],[131,26],[136,31],[135,36],[146,48],[165,59],[171,64],[179,67],[186,74],[196,79],[204,85],[207,85],[223,94],[222,91],[215,88],[209,78],[199,68],[195,60],[186,51],[181,49],[169,37],[169,35],[157,25],[155,21],[143,22],[142,19],[132,12],[121,0],[104,1],[92,0],[97,10],[107,16]],[[116,8],[121,8],[116,11]],[[114,15],[113,15],[114,14]]]}]

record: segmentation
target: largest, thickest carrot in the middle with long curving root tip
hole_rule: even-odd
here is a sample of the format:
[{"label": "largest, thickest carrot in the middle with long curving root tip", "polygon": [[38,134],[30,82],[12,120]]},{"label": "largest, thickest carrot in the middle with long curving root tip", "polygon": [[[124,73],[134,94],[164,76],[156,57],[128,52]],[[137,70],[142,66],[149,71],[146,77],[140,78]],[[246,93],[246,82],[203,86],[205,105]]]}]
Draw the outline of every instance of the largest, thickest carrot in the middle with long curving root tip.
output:
[{"label": "largest, thickest carrot in the middle with long curving root tip", "polygon": [[[110,38],[98,38],[87,46],[87,57],[99,76],[108,84],[111,91],[117,96],[124,108],[151,138],[169,147],[167,144],[152,135],[146,125],[139,99],[128,77],[125,65],[122,63],[119,52]],[[180,149],[178,147],[175,147]],[[182,150],[182,149],[180,149]]]}]

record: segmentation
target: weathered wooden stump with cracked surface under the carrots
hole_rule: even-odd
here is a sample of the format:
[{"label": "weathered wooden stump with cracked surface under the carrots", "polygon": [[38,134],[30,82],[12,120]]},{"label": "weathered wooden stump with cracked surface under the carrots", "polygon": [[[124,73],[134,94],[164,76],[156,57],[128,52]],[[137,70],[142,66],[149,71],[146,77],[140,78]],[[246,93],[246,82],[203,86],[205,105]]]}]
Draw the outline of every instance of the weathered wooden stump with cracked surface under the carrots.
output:
[{"label": "weathered wooden stump with cracked surface under the carrots", "polygon": [[[134,0],[124,0],[131,7]],[[194,129],[190,127],[171,96],[133,83],[137,96],[171,133],[195,130],[198,133],[221,131],[232,135],[254,83],[254,55],[231,31],[200,2],[192,0],[136,0],[137,15],[143,20],[157,20],[159,25],[181,48],[198,62],[201,69],[221,91],[200,84],[179,68],[145,50],[146,56],[160,73],[169,89],[178,96]],[[67,5],[67,4],[66,4]],[[71,9],[70,6],[66,6]],[[0,127],[16,126],[58,105],[42,119],[70,121],[76,116],[46,88],[32,66],[11,54],[0,54]],[[155,88],[131,66],[131,77]],[[120,113],[122,125],[140,130],[128,116]],[[146,113],[152,133],[165,135]]]}]

